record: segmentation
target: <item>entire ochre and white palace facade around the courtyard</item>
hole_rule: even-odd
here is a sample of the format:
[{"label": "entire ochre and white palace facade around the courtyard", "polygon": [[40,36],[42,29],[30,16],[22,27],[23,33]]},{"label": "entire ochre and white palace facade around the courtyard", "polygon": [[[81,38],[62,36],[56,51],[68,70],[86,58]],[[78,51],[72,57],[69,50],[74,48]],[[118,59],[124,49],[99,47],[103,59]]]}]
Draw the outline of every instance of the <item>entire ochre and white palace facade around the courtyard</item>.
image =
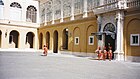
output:
[{"label": "entire ochre and white palace facade around the courtyard", "polygon": [[0,0],[0,47],[140,61],[139,0]]}]

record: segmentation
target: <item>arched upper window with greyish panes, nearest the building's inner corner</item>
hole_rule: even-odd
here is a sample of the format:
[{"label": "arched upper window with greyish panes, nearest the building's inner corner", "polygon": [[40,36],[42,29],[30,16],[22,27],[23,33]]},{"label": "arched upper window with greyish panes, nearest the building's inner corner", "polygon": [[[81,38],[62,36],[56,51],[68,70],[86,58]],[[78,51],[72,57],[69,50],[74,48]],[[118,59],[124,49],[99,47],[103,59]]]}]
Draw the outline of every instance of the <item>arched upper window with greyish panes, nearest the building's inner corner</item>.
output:
[{"label": "arched upper window with greyish panes, nearest the building's inner corner", "polygon": [[26,12],[26,20],[28,22],[33,22],[33,23],[36,23],[36,13],[37,12],[37,9],[30,5],[27,7],[27,12]]}]

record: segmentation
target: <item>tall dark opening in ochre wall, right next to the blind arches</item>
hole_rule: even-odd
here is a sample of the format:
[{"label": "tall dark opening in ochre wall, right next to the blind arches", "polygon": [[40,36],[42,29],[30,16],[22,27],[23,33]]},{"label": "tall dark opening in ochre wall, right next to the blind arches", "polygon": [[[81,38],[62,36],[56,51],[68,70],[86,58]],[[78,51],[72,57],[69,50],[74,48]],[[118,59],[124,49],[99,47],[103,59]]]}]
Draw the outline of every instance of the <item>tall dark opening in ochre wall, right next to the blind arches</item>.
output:
[{"label": "tall dark opening in ochre wall, right next to the blind arches", "polygon": [[63,30],[63,45],[62,48],[64,50],[68,50],[68,29]]}]

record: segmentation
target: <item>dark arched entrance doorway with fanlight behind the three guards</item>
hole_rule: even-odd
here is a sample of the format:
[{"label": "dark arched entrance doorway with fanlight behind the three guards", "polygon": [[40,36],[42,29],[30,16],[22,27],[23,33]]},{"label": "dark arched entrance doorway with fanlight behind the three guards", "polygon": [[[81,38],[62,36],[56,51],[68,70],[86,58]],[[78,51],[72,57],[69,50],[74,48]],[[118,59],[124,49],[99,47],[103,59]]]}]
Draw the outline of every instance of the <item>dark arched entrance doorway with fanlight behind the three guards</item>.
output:
[{"label": "dark arched entrance doorway with fanlight behind the three guards", "polygon": [[[109,50],[109,47],[112,47],[112,52],[116,49],[116,28],[112,23],[107,23],[103,29],[105,33],[105,47],[106,50]],[[114,58],[114,53],[113,57]]]}]

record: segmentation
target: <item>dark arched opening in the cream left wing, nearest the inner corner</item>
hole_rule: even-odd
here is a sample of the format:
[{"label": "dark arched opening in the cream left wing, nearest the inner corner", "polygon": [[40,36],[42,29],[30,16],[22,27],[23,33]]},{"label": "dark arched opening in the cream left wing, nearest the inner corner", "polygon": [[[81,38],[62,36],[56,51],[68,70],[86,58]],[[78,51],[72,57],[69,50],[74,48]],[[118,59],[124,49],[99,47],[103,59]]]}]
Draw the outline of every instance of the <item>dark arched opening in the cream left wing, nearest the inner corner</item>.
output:
[{"label": "dark arched opening in the cream left wing, nearest the inner corner", "polygon": [[32,32],[28,32],[26,35],[26,44],[30,45],[30,48],[33,48],[34,43],[34,34]]}]

